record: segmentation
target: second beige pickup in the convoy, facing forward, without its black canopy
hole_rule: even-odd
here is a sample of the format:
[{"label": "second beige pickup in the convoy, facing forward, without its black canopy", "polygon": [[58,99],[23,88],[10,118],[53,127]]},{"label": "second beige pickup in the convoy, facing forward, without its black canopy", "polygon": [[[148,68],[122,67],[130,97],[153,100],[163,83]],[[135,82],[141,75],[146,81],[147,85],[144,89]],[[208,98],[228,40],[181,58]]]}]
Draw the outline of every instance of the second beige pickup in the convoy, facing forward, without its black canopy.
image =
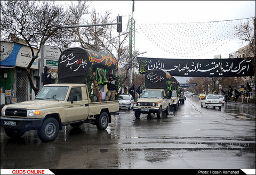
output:
[{"label": "second beige pickup in the convoy, facing forward, without its black canopy", "polygon": [[153,113],[157,115],[157,119],[162,118],[162,113],[166,115],[170,113],[172,99],[167,99],[164,89],[145,89],[141,93],[141,97],[135,102],[133,111],[135,118],[139,119],[140,114]]}]

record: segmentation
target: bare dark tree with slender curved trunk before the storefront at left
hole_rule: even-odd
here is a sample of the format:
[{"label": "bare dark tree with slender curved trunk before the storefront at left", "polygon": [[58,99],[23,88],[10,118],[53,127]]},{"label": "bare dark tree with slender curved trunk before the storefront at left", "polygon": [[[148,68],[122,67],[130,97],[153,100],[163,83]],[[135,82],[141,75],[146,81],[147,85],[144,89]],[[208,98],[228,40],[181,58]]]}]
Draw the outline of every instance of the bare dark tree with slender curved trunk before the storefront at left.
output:
[{"label": "bare dark tree with slender curved trunk before the storefront at left", "polygon": [[[30,68],[38,58],[42,45],[60,41],[65,29],[63,20],[66,15],[62,6],[54,4],[54,1],[2,1],[1,2],[1,35],[13,33],[25,39],[32,52],[32,59],[27,66],[27,76],[31,88],[38,93],[38,88],[32,82]],[[38,45],[38,51],[34,53],[32,45]]]}]

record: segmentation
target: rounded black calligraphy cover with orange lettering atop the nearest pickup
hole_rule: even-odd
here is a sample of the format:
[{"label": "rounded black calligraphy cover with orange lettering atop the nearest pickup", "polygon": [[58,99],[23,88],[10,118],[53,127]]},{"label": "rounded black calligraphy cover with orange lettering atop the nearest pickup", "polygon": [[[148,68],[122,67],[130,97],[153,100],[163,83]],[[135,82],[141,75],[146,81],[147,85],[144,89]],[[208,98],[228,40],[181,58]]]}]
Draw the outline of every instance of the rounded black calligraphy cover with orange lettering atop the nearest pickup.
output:
[{"label": "rounded black calligraphy cover with orange lettering atop the nearest pickup", "polygon": [[90,66],[118,70],[118,63],[111,54],[78,47],[68,48],[59,57],[59,82],[85,83],[86,77],[89,76]]}]

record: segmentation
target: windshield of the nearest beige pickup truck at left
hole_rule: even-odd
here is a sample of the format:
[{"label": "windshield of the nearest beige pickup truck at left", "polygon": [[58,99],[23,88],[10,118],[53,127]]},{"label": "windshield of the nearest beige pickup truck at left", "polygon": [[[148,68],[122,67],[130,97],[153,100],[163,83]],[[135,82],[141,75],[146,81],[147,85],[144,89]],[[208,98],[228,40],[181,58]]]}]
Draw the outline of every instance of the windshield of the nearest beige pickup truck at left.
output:
[{"label": "windshield of the nearest beige pickup truck at left", "polygon": [[67,86],[44,86],[36,95],[35,100],[57,100],[63,101],[67,95]]}]

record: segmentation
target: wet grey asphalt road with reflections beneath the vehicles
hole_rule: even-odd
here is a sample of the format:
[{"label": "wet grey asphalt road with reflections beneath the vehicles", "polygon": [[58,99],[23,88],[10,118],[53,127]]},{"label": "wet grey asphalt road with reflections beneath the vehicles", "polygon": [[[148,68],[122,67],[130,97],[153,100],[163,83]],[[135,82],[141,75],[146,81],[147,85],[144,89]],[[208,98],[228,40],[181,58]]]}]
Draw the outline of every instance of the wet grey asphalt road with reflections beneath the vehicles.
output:
[{"label": "wet grey asphalt road with reflections beneath the vehicles", "polygon": [[112,119],[104,131],[63,127],[48,143],[1,128],[1,169],[255,169],[255,104],[205,109],[194,96],[162,119],[127,109]]}]

